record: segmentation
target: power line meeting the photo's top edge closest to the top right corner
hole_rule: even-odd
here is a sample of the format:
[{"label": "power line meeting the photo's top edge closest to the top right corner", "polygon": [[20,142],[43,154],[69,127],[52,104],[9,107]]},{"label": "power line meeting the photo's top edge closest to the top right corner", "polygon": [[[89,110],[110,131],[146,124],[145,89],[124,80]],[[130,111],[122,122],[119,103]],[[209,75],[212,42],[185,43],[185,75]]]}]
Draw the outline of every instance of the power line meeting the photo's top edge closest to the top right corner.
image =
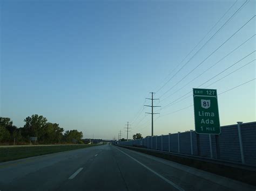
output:
[{"label": "power line meeting the photo's top edge closest to the top right corner", "polygon": [[[187,65],[187,63],[188,62],[190,62],[193,58],[194,58],[194,56],[196,56],[200,51],[201,51],[201,49],[203,49],[208,43],[209,43],[209,41],[213,38],[213,37],[215,37],[216,36],[216,34],[218,34],[219,33],[219,31],[221,30],[221,29],[223,29],[223,27],[234,17],[234,15],[236,15],[242,8],[243,8],[243,6],[247,3],[247,1],[248,0],[246,0],[238,9],[237,9],[237,11],[235,11],[234,13],[233,13],[233,15],[230,17],[230,18],[228,18],[228,20],[213,34],[213,36],[211,36],[211,38],[210,39],[208,39],[207,41],[206,41],[206,43],[203,45],[203,46],[201,46],[201,48],[196,52],[196,53],[194,53],[193,54],[193,56],[163,85],[163,86],[161,86],[161,88],[160,89],[162,89],[164,86],[166,86],[166,84],[168,83],[168,82],[170,82],[172,79],[173,79],[173,77],[174,76],[176,76],[179,72],[180,72],[180,70],[181,69],[183,69],[186,65]],[[159,89],[159,90],[160,90]],[[158,91],[159,91],[158,90]],[[165,94],[165,93],[164,93]],[[163,94],[163,95],[164,95]],[[163,96],[163,95],[161,95],[161,96]],[[160,96],[160,97],[161,97]]]}]

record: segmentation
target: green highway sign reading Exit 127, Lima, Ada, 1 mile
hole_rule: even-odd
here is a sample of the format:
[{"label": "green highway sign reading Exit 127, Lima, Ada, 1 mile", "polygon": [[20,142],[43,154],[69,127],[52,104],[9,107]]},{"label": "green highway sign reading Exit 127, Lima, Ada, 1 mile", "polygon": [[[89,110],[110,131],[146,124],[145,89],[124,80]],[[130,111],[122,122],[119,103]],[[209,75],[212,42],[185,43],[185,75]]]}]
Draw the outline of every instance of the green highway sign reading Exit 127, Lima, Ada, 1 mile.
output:
[{"label": "green highway sign reading Exit 127, Lima, Ada, 1 mile", "polygon": [[196,133],[220,134],[217,90],[193,88]]}]

